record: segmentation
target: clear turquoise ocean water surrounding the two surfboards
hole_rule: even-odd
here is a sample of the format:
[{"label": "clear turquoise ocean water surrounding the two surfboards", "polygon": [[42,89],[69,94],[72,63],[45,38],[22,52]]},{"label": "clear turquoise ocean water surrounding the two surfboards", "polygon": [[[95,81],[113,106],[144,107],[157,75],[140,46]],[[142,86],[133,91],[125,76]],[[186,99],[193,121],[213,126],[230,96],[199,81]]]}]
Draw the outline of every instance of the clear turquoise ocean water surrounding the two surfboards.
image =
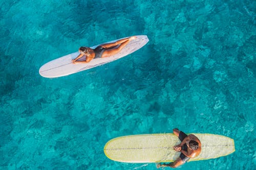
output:
[{"label": "clear turquoise ocean water surrounding the two surfboards", "polygon": [[[0,1],[0,169],[156,169],[105,157],[118,136],[214,133],[236,152],[179,169],[255,169],[255,1]],[[143,48],[47,79],[46,62],[147,35]],[[168,169],[168,168],[165,168]]]}]

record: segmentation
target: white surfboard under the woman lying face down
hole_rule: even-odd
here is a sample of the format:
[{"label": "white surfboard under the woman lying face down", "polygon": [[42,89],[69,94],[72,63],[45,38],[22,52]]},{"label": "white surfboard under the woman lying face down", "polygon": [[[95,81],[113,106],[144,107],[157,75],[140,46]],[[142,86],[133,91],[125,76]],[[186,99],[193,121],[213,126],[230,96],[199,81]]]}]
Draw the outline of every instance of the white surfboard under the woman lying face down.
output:
[{"label": "white surfboard under the woman lying face down", "polygon": [[[46,78],[56,78],[56,77],[71,75],[76,72],[80,72],[80,71],[87,70],[102,64],[115,61],[117,59],[120,59],[124,56],[127,56],[139,50],[142,46],[144,46],[148,42],[148,38],[146,35],[137,35],[136,37],[137,37],[136,39],[131,40],[119,53],[111,57],[96,58],[91,60],[89,63],[73,64],[71,62],[72,59],[75,59],[80,54],[79,52],[76,52],[76,53],[72,53],[72,54],[60,57],[58,59],[52,60],[42,65],[39,69],[39,74],[42,77],[46,77]],[[117,40],[113,40],[105,43],[115,42]],[[91,48],[94,49],[98,45],[94,45]],[[86,57],[83,56],[78,61],[85,60],[85,59]]]}]

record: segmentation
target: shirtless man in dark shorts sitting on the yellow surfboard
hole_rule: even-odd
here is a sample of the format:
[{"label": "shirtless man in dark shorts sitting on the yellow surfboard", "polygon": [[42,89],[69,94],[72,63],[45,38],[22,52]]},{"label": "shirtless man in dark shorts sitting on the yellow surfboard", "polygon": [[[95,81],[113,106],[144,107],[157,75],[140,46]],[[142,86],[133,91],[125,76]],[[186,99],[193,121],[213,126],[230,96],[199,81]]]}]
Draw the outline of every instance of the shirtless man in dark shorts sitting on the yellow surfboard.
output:
[{"label": "shirtless man in dark shorts sitting on the yellow surfboard", "polygon": [[184,132],[179,131],[178,129],[174,129],[173,131],[174,134],[181,140],[180,144],[173,147],[175,151],[181,152],[180,157],[173,163],[159,163],[157,164],[157,168],[165,166],[178,167],[187,162],[189,158],[198,156],[201,152],[201,142],[195,135],[186,135]]}]

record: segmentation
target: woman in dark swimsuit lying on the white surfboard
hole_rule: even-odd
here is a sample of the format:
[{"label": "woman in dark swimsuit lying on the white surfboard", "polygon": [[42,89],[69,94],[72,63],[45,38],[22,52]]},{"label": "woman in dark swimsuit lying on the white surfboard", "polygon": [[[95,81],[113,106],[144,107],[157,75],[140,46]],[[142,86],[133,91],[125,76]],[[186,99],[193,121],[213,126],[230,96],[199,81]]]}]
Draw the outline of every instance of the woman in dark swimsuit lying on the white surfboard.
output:
[{"label": "woman in dark swimsuit lying on the white surfboard", "polygon": [[[79,48],[80,55],[76,57],[76,59],[72,60],[73,64],[77,63],[89,63],[94,58],[103,58],[103,57],[110,57],[122,50],[131,40],[136,39],[137,37],[132,36],[129,38],[120,39],[113,43],[105,43],[97,46],[95,49],[89,47],[81,46]],[[119,45],[119,46],[118,46]],[[82,56],[86,56],[86,60],[84,61],[77,61]]]}]

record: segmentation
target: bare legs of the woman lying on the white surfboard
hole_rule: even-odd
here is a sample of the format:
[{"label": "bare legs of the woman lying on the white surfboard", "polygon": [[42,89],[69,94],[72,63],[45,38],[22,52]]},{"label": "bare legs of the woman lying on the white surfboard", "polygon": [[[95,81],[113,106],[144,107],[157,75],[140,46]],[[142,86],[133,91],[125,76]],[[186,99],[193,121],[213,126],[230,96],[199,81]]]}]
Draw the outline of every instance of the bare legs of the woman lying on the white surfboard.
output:
[{"label": "bare legs of the woman lying on the white surfboard", "polygon": [[[120,52],[122,50],[123,47],[125,47],[131,40],[133,39],[136,39],[137,37],[135,36],[132,36],[132,37],[129,37],[129,38],[124,38],[124,39],[121,39],[121,40],[118,40],[114,43],[110,43],[110,44],[107,44],[107,46],[117,46],[118,44],[120,44],[117,48],[111,48],[111,49],[106,49],[103,54],[102,54],[102,58],[103,57],[110,57],[110,56],[113,56],[115,54],[117,54],[118,52]],[[121,42],[121,43],[120,43]],[[102,46],[102,45],[100,45]],[[105,47],[105,46],[102,46],[102,47]]]}]

